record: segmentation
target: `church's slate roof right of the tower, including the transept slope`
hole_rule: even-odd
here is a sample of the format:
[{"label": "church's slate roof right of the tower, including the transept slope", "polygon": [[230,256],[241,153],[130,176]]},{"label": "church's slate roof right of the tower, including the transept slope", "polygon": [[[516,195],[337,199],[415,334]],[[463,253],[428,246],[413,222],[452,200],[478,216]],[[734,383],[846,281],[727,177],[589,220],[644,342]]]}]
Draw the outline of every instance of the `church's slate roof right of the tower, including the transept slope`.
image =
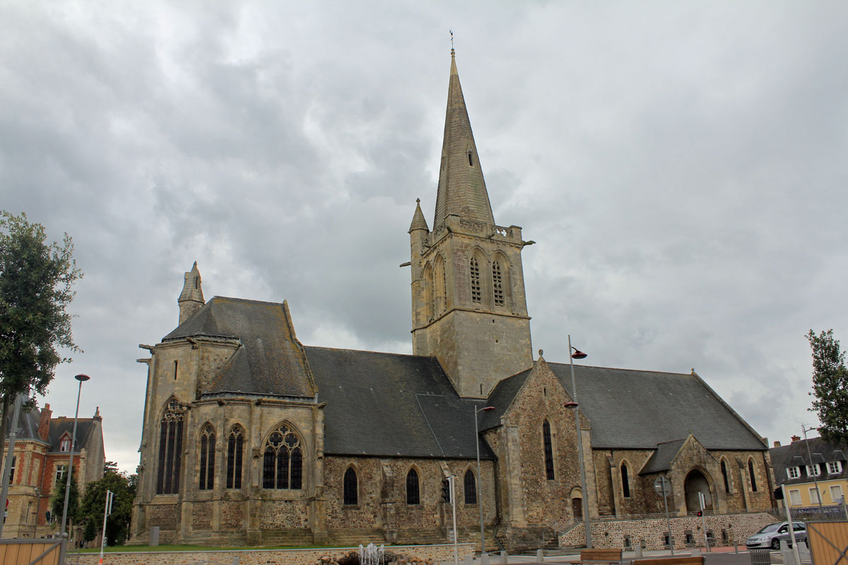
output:
[{"label": "church's slate roof right of the tower, including the transept slope", "polygon": [[[571,369],[548,363],[572,394]],[[500,417],[531,369],[504,379],[488,403],[495,410],[483,417],[483,429]],[[656,449],[691,433],[706,449],[758,450],[765,443],[694,374],[659,373],[622,368],[574,366],[577,402],[592,425],[592,446],[600,449]],[[573,395],[572,395],[573,396]]]}]

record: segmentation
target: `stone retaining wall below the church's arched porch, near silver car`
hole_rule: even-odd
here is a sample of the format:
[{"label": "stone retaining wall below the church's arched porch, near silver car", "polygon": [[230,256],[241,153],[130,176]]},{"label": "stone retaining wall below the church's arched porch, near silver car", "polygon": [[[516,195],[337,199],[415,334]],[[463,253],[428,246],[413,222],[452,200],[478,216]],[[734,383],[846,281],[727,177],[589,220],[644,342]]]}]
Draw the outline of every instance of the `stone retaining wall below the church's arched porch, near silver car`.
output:
[{"label": "stone retaining wall below the church's arched porch, near silver car", "polygon": [[[715,546],[745,545],[745,540],[757,530],[769,523],[779,522],[771,514],[758,512],[756,514],[728,514],[706,516],[706,529],[712,530]],[[633,546],[644,540],[645,549],[663,549],[664,535],[668,529],[666,518],[646,520],[620,520],[592,523],[592,546],[601,548],[624,547],[624,536],[629,535]],[[722,529],[727,533],[727,540],[722,539]],[[583,523],[560,535],[561,546],[583,546],[586,543]],[[686,534],[689,533],[694,544],[687,544]],[[701,529],[701,518],[687,516],[672,518],[672,535],[674,547],[704,546],[704,531]]]}]

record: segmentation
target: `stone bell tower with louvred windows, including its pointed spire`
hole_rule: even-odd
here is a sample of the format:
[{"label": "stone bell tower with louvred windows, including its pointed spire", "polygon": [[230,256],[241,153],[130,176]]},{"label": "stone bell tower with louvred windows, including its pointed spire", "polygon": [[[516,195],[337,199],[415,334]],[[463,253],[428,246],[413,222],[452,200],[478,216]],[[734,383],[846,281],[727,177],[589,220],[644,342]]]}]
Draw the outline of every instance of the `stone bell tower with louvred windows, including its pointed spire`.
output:
[{"label": "stone bell tower with louvred windows, including its pointed spire", "polygon": [[412,350],[438,358],[460,396],[485,397],[533,365],[522,229],[494,223],[450,50],[432,231],[420,202],[410,224]]}]

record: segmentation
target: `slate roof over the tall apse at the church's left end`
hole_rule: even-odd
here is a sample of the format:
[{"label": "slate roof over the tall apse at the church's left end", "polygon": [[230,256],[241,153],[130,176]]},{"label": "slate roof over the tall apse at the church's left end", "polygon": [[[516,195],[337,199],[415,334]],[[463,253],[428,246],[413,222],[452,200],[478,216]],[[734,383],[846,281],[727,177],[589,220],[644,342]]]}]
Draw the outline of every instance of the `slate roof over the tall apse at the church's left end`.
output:
[{"label": "slate roof over the tall apse at the church's left end", "polygon": [[162,341],[185,337],[241,341],[242,347],[209,382],[203,394],[241,392],[312,397],[315,391],[286,309],[284,304],[276,302],[215,296]]}]

